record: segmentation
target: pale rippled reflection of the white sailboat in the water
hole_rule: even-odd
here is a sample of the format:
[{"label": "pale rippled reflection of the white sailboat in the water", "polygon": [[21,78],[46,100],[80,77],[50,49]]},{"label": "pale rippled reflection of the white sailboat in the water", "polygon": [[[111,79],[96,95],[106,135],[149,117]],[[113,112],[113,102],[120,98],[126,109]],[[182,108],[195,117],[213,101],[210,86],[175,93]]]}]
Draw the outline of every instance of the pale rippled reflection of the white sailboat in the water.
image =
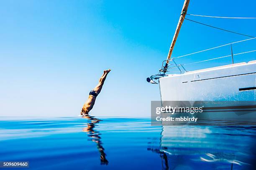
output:
[{"label": "pale rippled reflection of the white sailboat in the water", "polygon": [[255,134],[255,126],[162,126],[160,143],[153,140],[148,150],[160,155],[164,170],[248,170]]}]

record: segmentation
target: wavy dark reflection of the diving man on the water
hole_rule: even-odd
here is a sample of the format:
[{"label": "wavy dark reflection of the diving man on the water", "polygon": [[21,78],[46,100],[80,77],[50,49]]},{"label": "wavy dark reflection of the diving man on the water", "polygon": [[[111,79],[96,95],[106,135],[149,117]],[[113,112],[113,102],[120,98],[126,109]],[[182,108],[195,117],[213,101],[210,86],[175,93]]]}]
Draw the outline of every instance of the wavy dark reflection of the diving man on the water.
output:
[{"label": "wavy dark reflection of the diving man on the water", "polygon": [[83,132],[87,132],[88,137],[92,138],[92,142],[97,144],[97,149],[100,152],[100,164],[108,165],[108,160],[106,159],[106,154],[104,153],[104,148],[100,140],[100,133],[94,130],[95,126],[97,126],[96,124],[101,120],[93,116],[84,116],[84,118],[88,119],[88,123],[87,127],[83,129]]}]

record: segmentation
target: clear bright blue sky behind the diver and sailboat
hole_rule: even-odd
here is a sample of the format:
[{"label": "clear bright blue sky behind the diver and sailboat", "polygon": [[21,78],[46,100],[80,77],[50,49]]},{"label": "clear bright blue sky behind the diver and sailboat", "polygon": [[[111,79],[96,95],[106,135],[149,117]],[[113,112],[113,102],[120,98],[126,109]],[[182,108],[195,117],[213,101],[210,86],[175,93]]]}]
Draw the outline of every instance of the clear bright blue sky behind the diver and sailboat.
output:
[{"label": "clear bright blue sky behind the diver and sailboat", "polygon": [[[1,0],[0,116],[76,116],[104,69],[112,71],[91,111],[95,116],[150,116],[157,85],[146,82],[166,59],[183,0]],[[256,17],[255,0],[191,0],[188,13]],[[187,16],[256,36],[256,20]],[[185,20],[173,56],[247,39]],[[256,50],[256,41],[233,47]],[[177,60],[189,63],[229,55]],[[235,62],[255,60],[256,54]],[[230,59],[214,63],[230,63]],[[188,70],[199,69],[194,65]]]}]

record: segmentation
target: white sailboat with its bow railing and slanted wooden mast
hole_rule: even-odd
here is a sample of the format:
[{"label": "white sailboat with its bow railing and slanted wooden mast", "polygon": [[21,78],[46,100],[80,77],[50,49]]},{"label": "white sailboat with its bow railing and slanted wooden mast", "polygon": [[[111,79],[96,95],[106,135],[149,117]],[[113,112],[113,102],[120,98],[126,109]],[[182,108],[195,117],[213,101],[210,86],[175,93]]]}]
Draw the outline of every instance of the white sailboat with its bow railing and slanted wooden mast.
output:
[{"label": "white sailboat with its bow railing and slanted wooden mast", "polygon": [[[161,101],[256,101],[256,60],[247,63],[233,63],[230,65],[188,72],[185,69],[185,65],[177,64],[175,62],[176,58],[185,57],[187,55],[171,58],[179,30],[184,19],[186,19],[185,16],[188,5],[189,0],[185,0],[167,60],[164,60],[165,64],[163,62],[162,68],[159,70],[161,73],[147,78],[147,81],[151,83],[156,83],[158,80]],[[255,41],[256,37],[226,44],[231,45],[231,54],[210,60],[230,57],[230,60],[232,58],[233,62],[233,56],[245,53],[253,53],[256,59],[256,50],[245,51],[238,54],[233,54],[232,52],[232,44],[249,40]],[[218,47],[226,45],[220,45]],[[212,50],[218,47],[212,47],[207,50]],[[199,52],[205,52],[207,50]],[[193,55],[199,52],[193,52],[188,55]],[[206,61],[209,60],[199,62]],[[170,67],[171,65],[169,62],[174,63],[174,67],[180,71],[179,74],[166,74],[169,69],[174,68]]]}]

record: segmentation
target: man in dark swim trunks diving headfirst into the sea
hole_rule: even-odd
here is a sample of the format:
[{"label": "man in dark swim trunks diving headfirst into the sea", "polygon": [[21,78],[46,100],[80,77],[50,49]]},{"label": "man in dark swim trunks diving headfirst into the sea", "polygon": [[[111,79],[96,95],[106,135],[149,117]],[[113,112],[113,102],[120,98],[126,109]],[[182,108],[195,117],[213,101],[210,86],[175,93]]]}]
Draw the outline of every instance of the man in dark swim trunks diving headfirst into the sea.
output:
[{"label": "man in dark swim trunks diving headfirst into the sea", "polygon": [[92,107],[95,104],[96,97],[97,95],[99,95],[102,89],[102,86],[104,84],[104,81],[106,80],[106,77],[109,72],[110,72],[110,69],[104,70],[103,75],[100,77],[99,84],[93,90],[90,91],[89,97],[82,107],[82,111],[81,111],[82,116],[89,115],[88,113],[90,112],[90,110],[92,110]]}]

